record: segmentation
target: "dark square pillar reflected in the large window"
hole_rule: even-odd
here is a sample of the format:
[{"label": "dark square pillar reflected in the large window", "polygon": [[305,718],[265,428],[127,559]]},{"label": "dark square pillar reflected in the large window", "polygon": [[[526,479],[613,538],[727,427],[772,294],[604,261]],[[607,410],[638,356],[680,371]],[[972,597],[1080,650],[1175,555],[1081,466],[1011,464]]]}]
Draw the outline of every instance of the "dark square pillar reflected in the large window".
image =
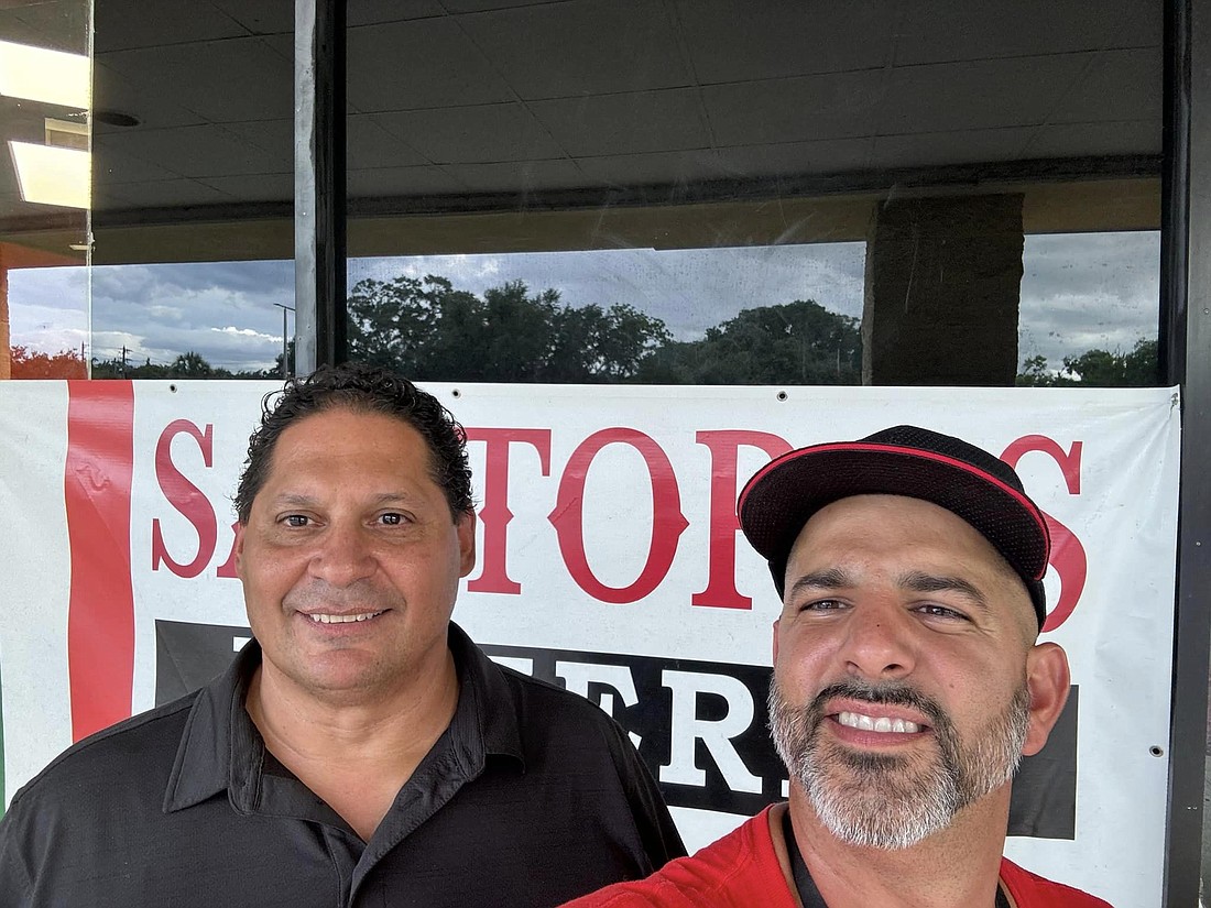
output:
[{"label": "dark square pillar reflected in the large window", "polygon": [[1012,385],[1022,196],[901,199],[867,231],[862,384]]}]

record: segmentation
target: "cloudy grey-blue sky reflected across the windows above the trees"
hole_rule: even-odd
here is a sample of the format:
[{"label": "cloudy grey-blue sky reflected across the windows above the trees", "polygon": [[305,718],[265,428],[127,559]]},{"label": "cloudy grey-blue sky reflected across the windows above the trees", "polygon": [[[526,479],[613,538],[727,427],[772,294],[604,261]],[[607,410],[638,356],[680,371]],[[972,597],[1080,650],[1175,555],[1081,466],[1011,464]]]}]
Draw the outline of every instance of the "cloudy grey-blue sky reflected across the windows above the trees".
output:
[{"label": "cloudy grey-blue sky reflected across the windows above the trees", "polygon": [[[557,288],[569,305],[631,304],[690,339],[742,309],[797,299],[861,316],[863,262],[862,243],[429,255],[354,260],[349,283],[436,274],[482,294],[522,280]],[[1157,232],[1027,237],[1023,268],[1021,358],[1058,366],[1066,355],[1129,350],[1157,335]],[[125,345],[130,362],[167,363],[191,350],[233,370],[268,368],[281,351],[274,304],[291,301],[293,289],[291,262],[97,266],[91,355],[119,357]],[[84,269],[12,271],[8,299],[13,344],[54,352],[87,340]]]}]

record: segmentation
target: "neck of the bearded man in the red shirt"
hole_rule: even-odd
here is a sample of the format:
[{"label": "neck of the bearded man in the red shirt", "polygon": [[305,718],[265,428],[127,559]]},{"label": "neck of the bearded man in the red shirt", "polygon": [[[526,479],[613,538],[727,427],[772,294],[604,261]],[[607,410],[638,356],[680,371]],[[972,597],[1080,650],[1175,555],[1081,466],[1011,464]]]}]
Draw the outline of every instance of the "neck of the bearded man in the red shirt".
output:
[{"label": "neck of the bearded man in the red shirt", "polygon": [[840,841],[802,792],[792,791],[791,817],[799,852],[828,908],[993,908],[1008,804],[1006,786],[965,808],[949,828],[895,850]]}]

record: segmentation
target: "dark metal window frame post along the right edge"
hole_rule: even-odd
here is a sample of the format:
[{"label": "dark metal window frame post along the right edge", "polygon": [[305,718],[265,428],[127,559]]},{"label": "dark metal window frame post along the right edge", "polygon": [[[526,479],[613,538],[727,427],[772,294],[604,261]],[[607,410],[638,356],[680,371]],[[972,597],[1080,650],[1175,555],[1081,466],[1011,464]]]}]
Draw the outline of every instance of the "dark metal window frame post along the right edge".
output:
[{"label": "dark metal window frame post along the right edge", "polygon": [[[1211,2],[1165,2],[1163,379],[1182,386],[1165,904],[1199,904],[1211,661]],[[1130,817],[1124,817],[1130,820]]]}]

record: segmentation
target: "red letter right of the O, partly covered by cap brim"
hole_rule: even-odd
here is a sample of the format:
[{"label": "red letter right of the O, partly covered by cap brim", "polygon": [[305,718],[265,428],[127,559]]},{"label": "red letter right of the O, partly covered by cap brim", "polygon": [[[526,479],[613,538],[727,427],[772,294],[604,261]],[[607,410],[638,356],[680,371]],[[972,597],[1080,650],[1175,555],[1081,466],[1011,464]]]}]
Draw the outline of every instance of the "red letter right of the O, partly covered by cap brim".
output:
[{"label": "red letter right of the O, partly covered by cap brim", "polygon": [[736,534],[740,518],[736,515],[736,470],[741,446],[761,448],[770,460],[791,450],[791,444],[770,432],[722,429],[702,431],[694,441],[711,452],[711,538],[706,590],[694,593],[691,605],[708,605],[721,609],[751,609],[751,596],[736,590]]}]

